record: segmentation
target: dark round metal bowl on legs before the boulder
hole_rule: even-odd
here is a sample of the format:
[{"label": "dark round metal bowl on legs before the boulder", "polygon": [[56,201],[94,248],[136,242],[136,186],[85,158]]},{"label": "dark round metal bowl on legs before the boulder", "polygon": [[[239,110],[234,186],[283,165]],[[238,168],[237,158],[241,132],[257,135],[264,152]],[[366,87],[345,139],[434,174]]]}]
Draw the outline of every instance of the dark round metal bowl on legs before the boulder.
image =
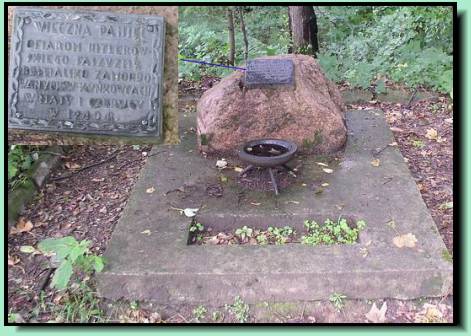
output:
[{"label": "dark round metal bowl on legs before the boulder", "polygon": [[291,160],[298,150],[295,143],[280,139],[258,139],[245,143],[239,158],[257,167],[280,166]]}]

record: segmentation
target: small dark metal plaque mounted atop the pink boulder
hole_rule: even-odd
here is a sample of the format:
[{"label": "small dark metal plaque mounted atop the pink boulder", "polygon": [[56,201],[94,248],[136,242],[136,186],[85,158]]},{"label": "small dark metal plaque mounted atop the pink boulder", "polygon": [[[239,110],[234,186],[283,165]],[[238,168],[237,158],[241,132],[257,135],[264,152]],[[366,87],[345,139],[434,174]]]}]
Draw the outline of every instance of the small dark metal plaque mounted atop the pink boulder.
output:
[{"label": "small dark metal plaque mounted atop the pink boulder", "polygon": [[245,86],[294,85],[294,64],[290,59],[256,59],[247,62]]}]

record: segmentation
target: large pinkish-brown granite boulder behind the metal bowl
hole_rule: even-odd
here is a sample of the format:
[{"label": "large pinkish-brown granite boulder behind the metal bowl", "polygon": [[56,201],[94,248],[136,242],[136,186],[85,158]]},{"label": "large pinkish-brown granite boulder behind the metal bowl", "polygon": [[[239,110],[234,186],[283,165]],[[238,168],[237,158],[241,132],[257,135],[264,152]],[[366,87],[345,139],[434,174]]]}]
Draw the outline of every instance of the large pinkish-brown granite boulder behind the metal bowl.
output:
[{"label": "large pinkish-brown granite boulder behind the metal bowl", "polygon": [[280,55],[294,63],[294,86],[248,89],[236,71],[207,90],[197,105],[198,146],[233,154],[259,138],[291,140],[305,152],[333,153],[347,137],[344,105],[335,84],[306,55]]}]

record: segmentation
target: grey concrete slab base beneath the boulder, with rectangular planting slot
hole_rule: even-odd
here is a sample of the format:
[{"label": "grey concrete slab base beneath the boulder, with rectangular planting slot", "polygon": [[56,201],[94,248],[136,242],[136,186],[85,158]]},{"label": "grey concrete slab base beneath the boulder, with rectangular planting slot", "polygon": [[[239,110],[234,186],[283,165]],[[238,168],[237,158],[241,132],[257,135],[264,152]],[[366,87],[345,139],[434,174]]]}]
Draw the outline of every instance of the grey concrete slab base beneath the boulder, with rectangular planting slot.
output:
[{"label": "grey concrete slab base beneath the boulder, with rectangular planting slot", "polygon": [[[186,114],[182,143],[154,148],[143,168],[98,275],[102,296],[162,304],[224,304],[237,295],[249,303],[308,301],[334,292],[408,299],[440,296],[452,285],[445,245],[401,153],[388,146],[393,137],[381,111],[348,112],[345,153],[329,163],[334,172],[316,163],[326,158],[298,157],[300,173],[278,197],[244,189],[229,169],[221,183],[216,159],[196,151],[194,120]],[[375,157],[379,167],[371,165]],[[211,197],[207,187],[218,183],[223,196]],[[329,183],[322,193],[309,187],[321,183]],[[155,192],[147,193],[151,187]],[[300,229],[304,219],[338,216],[363,219],[367,227],[354,245],[187,245],[191,219],[172,208],[193,207],[201,208],[198,221],[215,229]],[[414,248],[393,244],[407,233],[417,238]]]}]

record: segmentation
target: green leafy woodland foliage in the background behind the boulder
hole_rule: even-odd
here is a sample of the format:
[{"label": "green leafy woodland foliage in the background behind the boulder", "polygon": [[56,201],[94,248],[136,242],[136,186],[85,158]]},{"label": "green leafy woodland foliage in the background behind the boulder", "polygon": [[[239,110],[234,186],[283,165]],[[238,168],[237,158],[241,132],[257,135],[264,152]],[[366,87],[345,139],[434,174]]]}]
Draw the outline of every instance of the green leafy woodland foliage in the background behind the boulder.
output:
[{"label": "green leafy woodland foliage in the background behind the boulder", "polygon": [[[224,6],[180,7],[180,57],[228,63]],[[319,63],[335,82],[367,88],[384,80],[453,96],[453,11],[448,6],[314,6]],[[286,54],[291,44],[286,6],[244,6],[249,58]],[[243,37],[235,16],[236,64]],[[181,78],[225,76],[231,70],[180,62]]]}]

